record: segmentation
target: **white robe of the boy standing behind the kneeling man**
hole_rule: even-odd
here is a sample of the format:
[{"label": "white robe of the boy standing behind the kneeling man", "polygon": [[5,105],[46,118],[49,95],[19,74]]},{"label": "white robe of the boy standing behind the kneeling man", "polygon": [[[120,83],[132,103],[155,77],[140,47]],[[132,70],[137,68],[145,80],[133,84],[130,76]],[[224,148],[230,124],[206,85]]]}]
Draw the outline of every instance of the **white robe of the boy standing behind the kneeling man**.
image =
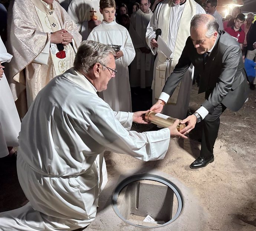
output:
[{"label": "white robe of the boy standing behind the kneeling man", "polygon": [[99,92],[99,96],[114,111],[132,111],[128,66],[135,57],[135,50],[129,32],[115,21],[111,23],[102,21],[99,26],[93,28],[87,40],[103,44],[121,45],[120,50],[124,56],[115,60],[117,74],[115,78],[109,81],[108,88]]}]

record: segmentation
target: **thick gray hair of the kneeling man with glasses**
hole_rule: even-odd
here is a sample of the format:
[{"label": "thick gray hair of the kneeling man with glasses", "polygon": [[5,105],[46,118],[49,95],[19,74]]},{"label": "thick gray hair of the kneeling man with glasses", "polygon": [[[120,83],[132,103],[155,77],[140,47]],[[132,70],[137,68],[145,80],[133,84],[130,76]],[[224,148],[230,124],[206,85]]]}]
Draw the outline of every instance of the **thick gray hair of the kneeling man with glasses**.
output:
[{"label": "thick gray hair of the kneeling man with glasses", "polygon": [[91,40],[82,41],[76,53],[74,68],[88,74],[90,69],[98,62],[108,65],[108,55],[115,54],[112,47]]}]

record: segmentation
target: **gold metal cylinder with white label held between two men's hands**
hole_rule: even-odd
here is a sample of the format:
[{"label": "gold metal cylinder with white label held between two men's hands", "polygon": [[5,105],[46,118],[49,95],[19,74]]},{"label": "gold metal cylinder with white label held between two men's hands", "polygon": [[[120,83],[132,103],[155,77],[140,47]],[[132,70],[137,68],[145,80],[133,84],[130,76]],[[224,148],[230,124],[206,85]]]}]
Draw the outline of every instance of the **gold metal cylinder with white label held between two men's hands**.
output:
[{"label": "gold metal cylinder with white label held between two men's hands", "polygon": [[[181,121],[180,119],[172,118],[171,116],[167,116],[167,115],[157,113],[157,112],[154,112],[154,111],[147,112],[145,114],[145,119],[148,122],[154,123],[154,124],[159,125],[163,128],[168,128],[169,126],[173,125],[173,123],[176,120]],[[177,130],[180,131],[185,127],[186,127],[185,124],[178,123]]]}]

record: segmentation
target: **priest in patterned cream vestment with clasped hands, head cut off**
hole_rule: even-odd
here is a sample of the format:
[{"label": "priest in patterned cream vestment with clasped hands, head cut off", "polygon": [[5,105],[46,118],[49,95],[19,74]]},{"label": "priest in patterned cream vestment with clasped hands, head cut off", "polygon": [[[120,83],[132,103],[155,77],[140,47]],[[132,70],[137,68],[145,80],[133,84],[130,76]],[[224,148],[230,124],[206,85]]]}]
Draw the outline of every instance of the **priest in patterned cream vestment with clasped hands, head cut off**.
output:
[{"label": "priest in patterned cream vestment with clasped hands, head cut off", "polygon": [[9,82],[23,117],[40,89],[73,66],[81,35],[57,1],[14,0],[9,10]]}]

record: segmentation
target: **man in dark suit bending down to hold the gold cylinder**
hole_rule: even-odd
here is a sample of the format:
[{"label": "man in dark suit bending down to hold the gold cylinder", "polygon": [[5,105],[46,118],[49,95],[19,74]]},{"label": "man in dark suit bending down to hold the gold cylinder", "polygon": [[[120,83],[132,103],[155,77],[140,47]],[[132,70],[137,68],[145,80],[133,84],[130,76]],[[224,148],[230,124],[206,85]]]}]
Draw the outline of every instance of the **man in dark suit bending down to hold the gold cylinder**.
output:
[{"label": "man in dark suit bending down to hold the gold cylinder", "polygon": [[205,92],[206,99],[193,115],[182,122],[187,123],[181,130],[185,134],[195,127],[196,122],[203,120],[200,157],[190,164],[192,169],[196,169],[214,161],[213,146],[219,131],[220,115],[226,108],[238,111],[246,101],[249,86],[239,43],[219,30],[213,16],[197,14],[191,20],[190,37],[178,64],[150,111],[162,111],[191,63],[201,76],[198,93]]}]

